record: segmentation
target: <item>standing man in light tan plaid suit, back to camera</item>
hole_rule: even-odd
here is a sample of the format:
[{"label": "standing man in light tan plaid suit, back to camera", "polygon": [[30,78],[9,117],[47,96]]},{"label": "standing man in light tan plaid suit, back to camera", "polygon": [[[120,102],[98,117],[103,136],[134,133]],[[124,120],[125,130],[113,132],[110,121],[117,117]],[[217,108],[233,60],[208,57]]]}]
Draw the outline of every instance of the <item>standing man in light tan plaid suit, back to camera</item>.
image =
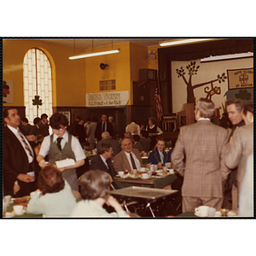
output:
[{"label": "standing man in light tan plaid suit, back to camera", "polygon": [[181,127],[172,151],[172,164],[184,177],[183,212],[194,212],[199,206],[222,207],[224,182],[229,175],[224,164],[228,132],[212,124],[214,117],[214,103],[201,98],[195,107],[197,122]]}]

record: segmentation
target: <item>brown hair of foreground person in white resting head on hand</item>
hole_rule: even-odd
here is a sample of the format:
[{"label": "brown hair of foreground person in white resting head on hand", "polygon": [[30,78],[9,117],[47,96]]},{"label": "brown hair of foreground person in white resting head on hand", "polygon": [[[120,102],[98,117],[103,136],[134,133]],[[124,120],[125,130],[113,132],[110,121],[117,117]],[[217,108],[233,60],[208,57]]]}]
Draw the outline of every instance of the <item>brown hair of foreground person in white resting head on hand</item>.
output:
[{"label": "brown hair of foreground person in white resting head on hand", "polygon": [[85,172],[79,178],[79,186],[81,186],[81,197],[84,200],[95,200],[103,198],[108,200],[110,178],[108,172],[100,170],[91,170]]}]

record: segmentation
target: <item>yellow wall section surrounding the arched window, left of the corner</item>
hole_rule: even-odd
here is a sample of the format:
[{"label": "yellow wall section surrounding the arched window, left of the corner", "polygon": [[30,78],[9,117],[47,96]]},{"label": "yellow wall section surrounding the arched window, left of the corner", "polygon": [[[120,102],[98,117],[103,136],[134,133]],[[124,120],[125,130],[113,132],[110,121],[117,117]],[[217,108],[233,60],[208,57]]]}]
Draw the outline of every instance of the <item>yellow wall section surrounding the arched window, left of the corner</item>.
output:
[{"label": "yellow wall section surrounding the arched window, left of the corner", "polygon": [[[14,81],[14,103],[4,106],[24,106],[23,59],[26,52],[36,47],[49,57],[53,73],[53,106],[85,106],[85,62],[68,59],[73,47],[49,44],[38,40],[3,40],[3,79]],[[76,49],[76,53],[84,52]]]}]

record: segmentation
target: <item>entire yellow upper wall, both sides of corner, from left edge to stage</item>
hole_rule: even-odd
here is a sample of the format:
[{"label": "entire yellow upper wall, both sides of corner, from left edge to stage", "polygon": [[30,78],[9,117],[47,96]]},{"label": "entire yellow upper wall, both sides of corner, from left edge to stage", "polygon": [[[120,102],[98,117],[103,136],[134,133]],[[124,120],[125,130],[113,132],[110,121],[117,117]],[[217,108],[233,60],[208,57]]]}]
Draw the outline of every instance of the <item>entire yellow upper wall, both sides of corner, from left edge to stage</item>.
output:
[{"label": "entire yellow upper wall, both sides of corner, from left edge to stage", "polygon": [[[73,47],[33,39],[4,39],[3,79],[14,82],[14,103],[4,106],[24,106],[22,64],[27,50],[33,47],[43,50],[52,65],[54,107],[84,107],[86,93],[104,92],[99,90],[99,81],[108,79],[116,80],[116,91],[129,90],[127,104],[131,105],[131,85],[132,81],[139,80],[139,69],[157,69],[157,61],[146,60],[150,48],[137,44],[114,44],[113,49],[120,49],[118,54],[70,61],[68,56],[74,54]],[[106,46],[94,50],[111,48]],[[76,54],[83,52],[84,49],[75,49]],[[91,52],[91,49],[86,49],[86,52]],[[102,70],[100,63],[109,67]]]}]

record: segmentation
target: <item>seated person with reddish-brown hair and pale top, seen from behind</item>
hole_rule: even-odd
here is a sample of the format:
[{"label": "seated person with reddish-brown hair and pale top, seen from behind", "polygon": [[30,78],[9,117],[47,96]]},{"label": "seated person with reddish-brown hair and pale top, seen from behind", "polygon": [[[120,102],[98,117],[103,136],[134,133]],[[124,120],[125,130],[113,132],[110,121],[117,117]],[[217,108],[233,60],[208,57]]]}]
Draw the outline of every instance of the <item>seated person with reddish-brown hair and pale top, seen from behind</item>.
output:
[{"label": "seated person with reddish-brown hair and pale top, seen from behind", "polygon": [[76,205],[70,185],[55,166],[46,166],[38,175],[38,190],[32,193],[27,212],[43,217],[68,217]]}]

